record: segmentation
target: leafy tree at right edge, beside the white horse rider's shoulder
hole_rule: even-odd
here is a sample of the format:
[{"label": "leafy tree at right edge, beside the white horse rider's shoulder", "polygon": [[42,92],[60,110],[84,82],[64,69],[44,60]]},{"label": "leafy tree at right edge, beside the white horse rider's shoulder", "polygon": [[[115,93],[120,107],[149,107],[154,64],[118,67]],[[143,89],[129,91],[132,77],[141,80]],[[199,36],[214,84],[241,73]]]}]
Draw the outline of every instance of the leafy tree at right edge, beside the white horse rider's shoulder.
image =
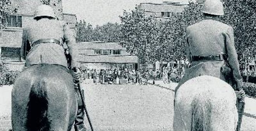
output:
[{"label": "leafy tree at right edge, beside the white horse rider's shoulder", "polygon": [[223,0],[225,15],[221,20],[234,27],[235,47],[240,64],[256,59],[256,1]]}]

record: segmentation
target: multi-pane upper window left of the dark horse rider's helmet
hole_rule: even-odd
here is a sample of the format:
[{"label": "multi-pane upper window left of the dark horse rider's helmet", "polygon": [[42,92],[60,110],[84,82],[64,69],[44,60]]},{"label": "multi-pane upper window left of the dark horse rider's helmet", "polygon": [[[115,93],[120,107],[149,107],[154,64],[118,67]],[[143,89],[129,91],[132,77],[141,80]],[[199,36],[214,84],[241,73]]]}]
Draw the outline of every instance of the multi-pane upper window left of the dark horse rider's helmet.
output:
[{"label": "multi-pane upper window left of the dark horse rider's helmet", "polygon": [[22,27],[21,15],[10,15],[6,21],[7,27]]}]

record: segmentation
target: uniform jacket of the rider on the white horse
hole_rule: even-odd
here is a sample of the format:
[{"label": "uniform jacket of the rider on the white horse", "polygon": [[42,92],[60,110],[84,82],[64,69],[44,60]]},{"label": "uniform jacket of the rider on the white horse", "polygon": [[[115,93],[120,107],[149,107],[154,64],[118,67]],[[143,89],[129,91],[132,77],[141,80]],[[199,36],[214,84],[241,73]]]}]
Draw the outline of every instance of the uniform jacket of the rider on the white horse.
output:
[{"label": "uniform jacket of the rider on the white horse", "polygon": [[194,62],[190,56],[227,54],[234,78],[236,81],[240,81],[242,77],[234,43],[233,28],[216,20],[206,19],[187,27],[187,59],[191,66],[185,71],[176,90],[187,80],[202,75],[218,77],[225,81],[225,77],[220,71],[225,64],[224,61]]}]

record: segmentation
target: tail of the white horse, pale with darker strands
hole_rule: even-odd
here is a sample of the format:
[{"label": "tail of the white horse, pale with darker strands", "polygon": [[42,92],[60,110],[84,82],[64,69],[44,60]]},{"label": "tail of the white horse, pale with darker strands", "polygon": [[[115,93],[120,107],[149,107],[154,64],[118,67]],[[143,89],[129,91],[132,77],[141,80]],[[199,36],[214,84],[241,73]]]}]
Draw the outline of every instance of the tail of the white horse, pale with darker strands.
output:
[{"label": "tail of the white horse, pale with darker strands", "polygon": [[192,125],[191,131],[211,131],[211,109],[212,104],[207,97],[210,94],[198,94],[192,101]]}]

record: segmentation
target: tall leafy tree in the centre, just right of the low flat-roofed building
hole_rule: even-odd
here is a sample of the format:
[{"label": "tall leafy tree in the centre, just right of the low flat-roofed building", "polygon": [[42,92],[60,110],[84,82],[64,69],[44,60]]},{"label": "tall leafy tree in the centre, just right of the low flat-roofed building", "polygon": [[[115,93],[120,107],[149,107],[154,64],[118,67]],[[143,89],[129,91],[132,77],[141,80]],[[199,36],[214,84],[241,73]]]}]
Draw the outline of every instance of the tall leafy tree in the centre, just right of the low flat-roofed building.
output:
[{"label": "tall leafy tree in the centre, just right of the low flat-roofed building", "polygon": [[124,11],[121,18],[123,47],[131,54],[138,56],[141,69],[145,70],[148,63],[155,61],[156,49],[159,47],[161,23],[156,18],[145,16],[140,6],[131,12]]}]

